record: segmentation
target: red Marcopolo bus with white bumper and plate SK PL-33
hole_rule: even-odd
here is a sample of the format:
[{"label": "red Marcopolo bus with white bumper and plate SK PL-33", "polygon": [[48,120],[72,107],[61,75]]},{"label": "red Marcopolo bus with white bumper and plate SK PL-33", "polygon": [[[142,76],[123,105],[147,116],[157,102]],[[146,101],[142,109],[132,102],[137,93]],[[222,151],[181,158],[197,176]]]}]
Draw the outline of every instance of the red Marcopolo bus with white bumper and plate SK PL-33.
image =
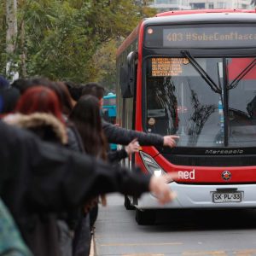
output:
[{"label": "red Marcopolo bus with white bumper and plate SK PL-33", "polygon": [[138,224],[159,208],[256,207],[254,10],[172,11],[143,20],[117,53],[119,125],[179,135],[176,148],[143,147],[126,165],[162,175],[177,199],[125,198]]}]

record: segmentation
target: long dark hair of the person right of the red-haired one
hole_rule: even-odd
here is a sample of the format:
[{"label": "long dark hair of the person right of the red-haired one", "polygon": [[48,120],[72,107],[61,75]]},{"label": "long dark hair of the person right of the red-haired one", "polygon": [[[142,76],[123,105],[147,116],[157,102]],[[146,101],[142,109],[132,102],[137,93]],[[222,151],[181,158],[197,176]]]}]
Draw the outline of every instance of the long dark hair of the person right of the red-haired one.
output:
[{"label": "long dark hair of the person right of the red-haired one", "polygon": [[95,96],[82,96],[69,119],[76,125],[87,154],[107,160],[107,139],[102,130],[100,102]]}]

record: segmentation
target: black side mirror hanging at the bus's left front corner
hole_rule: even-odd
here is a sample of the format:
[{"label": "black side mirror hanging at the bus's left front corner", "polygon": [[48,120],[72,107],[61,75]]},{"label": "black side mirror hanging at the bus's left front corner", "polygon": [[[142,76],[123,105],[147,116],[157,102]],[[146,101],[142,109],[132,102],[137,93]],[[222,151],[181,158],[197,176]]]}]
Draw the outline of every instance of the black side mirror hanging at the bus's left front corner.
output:
[{"label": "black side mirror hanging at the bus's left front corner", "polygon": [[134,96],[136,88],[137,52],[131,51],[127,55],[127,62],[120,69],[120,85],[123,98]]}]

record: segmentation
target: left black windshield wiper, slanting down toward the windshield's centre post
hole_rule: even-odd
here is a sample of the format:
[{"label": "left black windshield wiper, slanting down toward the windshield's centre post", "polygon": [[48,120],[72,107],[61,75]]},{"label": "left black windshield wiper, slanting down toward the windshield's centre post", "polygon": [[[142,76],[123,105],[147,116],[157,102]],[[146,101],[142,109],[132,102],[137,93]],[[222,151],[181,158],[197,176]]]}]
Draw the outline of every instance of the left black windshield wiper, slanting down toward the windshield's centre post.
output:
[{"label": "left black windshield wiper, slanting down toward the windshield's centre post", "polygon": [[205,70],[200,66],[200,64],[195,61],[195,58],[189,53],[188,50],[182,50],[181,54],[187,57],[195,70],[201,74],[202,79],[204,79],[210,88],[216,93],[222,93],[221,88],[218,88],[218,85],[210,78],[210,76],[205,72]]}]

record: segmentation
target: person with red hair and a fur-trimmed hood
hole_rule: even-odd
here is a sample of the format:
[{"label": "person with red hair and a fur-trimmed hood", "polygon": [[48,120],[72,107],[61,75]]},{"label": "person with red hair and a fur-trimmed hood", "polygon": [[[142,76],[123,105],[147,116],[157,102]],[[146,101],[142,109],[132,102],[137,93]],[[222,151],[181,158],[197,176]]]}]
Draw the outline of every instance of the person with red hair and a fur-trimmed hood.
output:
[{"label": "person with red hair and a fur-trimmed hood", "polygon": [[[11,125],[32,131],[45,142],[65,145],[68,148],[69,128],[61,107],[54,90],[44,85],[33,86],[20,96],[15,108],[16,113],[4,120]],[[32,250],[38,252],[37,255],[71,256],[72,236],[68,237],[66,234],[73,230],[69,223],[76,221],[76,212],[77,210],[67,210],[59,214],[38,215],[38,222],[34,224],[30,240]]]}]

